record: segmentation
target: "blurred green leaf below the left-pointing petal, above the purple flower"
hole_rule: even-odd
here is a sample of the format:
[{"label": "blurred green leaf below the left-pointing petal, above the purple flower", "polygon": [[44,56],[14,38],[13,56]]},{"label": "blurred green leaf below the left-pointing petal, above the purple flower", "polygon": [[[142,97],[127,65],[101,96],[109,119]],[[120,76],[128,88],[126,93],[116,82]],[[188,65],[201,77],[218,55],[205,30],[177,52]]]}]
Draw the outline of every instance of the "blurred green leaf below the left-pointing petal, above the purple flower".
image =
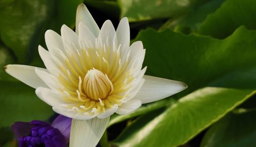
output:
[{"label": "blurred green leaf below the left-pointing petal, above the purple flower", "polygon": [[11,126],[12,123],[30,122],[32,120],[48,120],[53,114],[52,108],[42,102],[35,90],[21,82],[0,82],[0,127]]}]

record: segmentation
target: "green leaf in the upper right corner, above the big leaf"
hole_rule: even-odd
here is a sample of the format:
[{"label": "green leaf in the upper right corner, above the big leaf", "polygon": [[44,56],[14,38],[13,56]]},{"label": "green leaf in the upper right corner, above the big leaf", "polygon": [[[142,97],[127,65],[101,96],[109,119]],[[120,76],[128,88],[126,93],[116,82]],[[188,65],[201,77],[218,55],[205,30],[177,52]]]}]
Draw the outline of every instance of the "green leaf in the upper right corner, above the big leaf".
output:
[{"label": "green leaf in the upper right corner, above the big leaf", "polygon": [[256,29],[256,1],[227,0],[199,27],[199,33],[216,38],[225,38],[241,25]]}]

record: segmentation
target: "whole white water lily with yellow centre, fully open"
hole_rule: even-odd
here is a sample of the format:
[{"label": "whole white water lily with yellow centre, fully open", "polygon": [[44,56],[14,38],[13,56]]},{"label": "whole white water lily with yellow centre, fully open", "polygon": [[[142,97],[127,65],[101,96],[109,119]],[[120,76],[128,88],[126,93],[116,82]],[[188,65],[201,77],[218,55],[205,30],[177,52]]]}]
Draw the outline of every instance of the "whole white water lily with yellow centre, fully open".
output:
[{"label": "whole white water lily with yellow centre, fully open", "polygon": [[126,114],[143,103],[174,95],[186,84],[144,75],[142,42],[130,46],[130,28],[123,18],[115,31],[110,20],[99,29],[83,4],[78,6],[76,32],[48,30],[49,51],[38,47],[47,69],[8,65],[6,72],[36,89],[36,95],[59,114],[73,118],[70,146],[96,146],[110,115]]}]

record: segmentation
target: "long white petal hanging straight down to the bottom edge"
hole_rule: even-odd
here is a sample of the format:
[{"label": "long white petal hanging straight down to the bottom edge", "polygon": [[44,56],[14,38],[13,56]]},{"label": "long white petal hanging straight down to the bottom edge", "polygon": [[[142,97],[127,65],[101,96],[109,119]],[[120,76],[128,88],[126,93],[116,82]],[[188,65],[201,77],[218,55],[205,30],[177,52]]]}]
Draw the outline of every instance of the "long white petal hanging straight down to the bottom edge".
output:
[{"label": "long white petal hanging straight down to the bottom edge", "polygon": [[72,120],[70,147],[95,147],[108,126],[110,117],[91,120]]}]

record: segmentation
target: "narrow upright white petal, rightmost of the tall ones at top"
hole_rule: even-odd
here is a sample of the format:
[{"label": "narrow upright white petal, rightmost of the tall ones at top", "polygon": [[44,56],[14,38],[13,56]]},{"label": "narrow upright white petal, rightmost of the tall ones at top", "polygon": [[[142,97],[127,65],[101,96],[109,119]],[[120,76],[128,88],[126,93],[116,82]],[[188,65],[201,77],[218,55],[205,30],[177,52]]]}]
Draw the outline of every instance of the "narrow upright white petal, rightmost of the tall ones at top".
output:
[{"label": "narrow upright white petal, rightmost of the tall ones at top", "polygon": [[127,54],[130,46],[130,26],[127,17],[122,18],[119,22],[116,35],[117,45],[121,44],[121,52]]}]

